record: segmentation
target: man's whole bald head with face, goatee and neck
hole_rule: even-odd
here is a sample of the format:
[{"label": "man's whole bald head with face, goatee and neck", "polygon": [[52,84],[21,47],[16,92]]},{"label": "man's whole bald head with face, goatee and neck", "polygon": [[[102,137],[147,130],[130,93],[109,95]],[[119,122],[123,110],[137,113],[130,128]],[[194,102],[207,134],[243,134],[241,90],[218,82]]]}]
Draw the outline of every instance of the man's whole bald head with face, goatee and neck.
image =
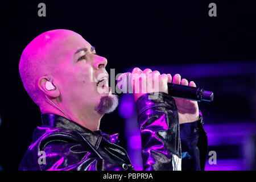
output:
[{"label": "man's whole bald head with face, goatee and neck", "polygon": [[[118,105],[118,98],[108,85],[107,63],[76,32],[51,30],[37,36],[24,49],[19,73],[41,113],[62,115],[95,131],[103,115]],[[53,89],[46,88],[48,81]],[[102,89],[107,92],[98,92]]]}]

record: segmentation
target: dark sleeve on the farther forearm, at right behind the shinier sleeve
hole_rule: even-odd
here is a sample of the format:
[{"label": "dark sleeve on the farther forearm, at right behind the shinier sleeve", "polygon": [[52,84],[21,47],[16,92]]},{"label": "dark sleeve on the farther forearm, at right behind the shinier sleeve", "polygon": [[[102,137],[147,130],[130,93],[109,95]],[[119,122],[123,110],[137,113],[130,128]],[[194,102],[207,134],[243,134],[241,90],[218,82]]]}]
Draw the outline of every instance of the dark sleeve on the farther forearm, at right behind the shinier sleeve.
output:
[{"label": "dark sleeve on the farther forearm, at right behind the shinier sleeve", "polygon": [[203,125],[201,115],[195,122],[180,124],[181,169],[183,171],[204,170],[208,140]]}]

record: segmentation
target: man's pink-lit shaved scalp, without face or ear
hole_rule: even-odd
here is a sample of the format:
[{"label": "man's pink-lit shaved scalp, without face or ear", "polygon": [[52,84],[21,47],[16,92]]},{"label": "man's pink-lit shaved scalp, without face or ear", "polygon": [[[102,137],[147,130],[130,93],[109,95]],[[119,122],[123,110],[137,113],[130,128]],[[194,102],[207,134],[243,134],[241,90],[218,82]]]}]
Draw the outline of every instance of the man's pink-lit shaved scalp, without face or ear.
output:
[{"label": "man's pink-lit shaved scalp, without face or ear", "polygon": [[[61,60],[68,56],[65,42],[81,35],[70,30],[51,30],[44,32],[32,40],[22,52],[19,62],[19,73],[28,95],[40,106],[42,92],[37,86],[41,76],[55,75]],[[72,43],[71,43],[72,45]]]}]

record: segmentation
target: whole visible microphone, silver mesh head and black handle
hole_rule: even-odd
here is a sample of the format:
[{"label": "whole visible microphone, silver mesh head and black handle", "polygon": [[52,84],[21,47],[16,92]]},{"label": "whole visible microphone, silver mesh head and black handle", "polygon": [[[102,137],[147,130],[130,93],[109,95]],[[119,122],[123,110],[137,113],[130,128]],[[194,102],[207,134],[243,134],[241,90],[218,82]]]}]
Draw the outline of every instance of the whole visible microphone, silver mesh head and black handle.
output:
[{"label": "whole visible microphone, silver mesh head and black handle", "polygon": [[[214,94],[204,88],[193,87],[187,85],[179,85],[167,83],[168,85],[168,94],[172,97],[184,98],[192,101],[208,101],[212,102]],[[131,73],[122,73],[117,79],[117,86],[123,93],[133,93],[133,88],[131,87]]]}]

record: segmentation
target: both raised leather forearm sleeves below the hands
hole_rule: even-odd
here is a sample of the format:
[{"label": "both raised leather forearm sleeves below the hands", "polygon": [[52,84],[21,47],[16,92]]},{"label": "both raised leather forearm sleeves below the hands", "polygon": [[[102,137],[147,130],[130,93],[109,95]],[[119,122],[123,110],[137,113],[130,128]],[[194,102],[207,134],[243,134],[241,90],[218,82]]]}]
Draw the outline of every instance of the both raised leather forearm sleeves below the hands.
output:
[{"label": "both raised leather forearm sleeves below the hands", "polygon": [[155,100],[148,96],[154,94],[137,100],[143,170],[204,170],[208,144],[201,115],[179,125],[174,98],[163,92]]}]

